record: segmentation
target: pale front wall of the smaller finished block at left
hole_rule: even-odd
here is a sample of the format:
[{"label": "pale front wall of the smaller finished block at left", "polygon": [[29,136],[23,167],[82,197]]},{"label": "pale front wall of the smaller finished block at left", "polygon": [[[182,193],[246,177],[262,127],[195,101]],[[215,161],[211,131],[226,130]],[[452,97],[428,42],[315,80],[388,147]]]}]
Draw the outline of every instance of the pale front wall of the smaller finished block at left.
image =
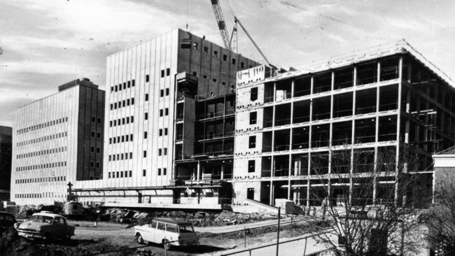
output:
[{"label": "pale front wall of the smaller finished block at left", "polygon": [[[66,201],[66,184],[76,182],[76,161],[78,141],[78,101],[79,86],[52,94],[31,104],[18,108],[13,120],[13,159],[11,167],[11,201],[16,204],[53,204],[54,201]],[[35,129],[18,134],[18,129],[31,127],[44,122],[68,118],[50,127]],[[67,132],[68,136],[53,138],[46,141],[20,145],[22,141],[43,136]],[[64,147],[66,151],[55,152],[41,156],[23,157],[18,155],[39,150]],[[21,166],[30,166],[52,162],[66,162],[66,166],[16,171]],[[64,177],[60,181],[41,181],[45,178]],[[16,183],[16,180],[39,179],[38,182]],[[20,198],[26,195],[26,198]]]}]

